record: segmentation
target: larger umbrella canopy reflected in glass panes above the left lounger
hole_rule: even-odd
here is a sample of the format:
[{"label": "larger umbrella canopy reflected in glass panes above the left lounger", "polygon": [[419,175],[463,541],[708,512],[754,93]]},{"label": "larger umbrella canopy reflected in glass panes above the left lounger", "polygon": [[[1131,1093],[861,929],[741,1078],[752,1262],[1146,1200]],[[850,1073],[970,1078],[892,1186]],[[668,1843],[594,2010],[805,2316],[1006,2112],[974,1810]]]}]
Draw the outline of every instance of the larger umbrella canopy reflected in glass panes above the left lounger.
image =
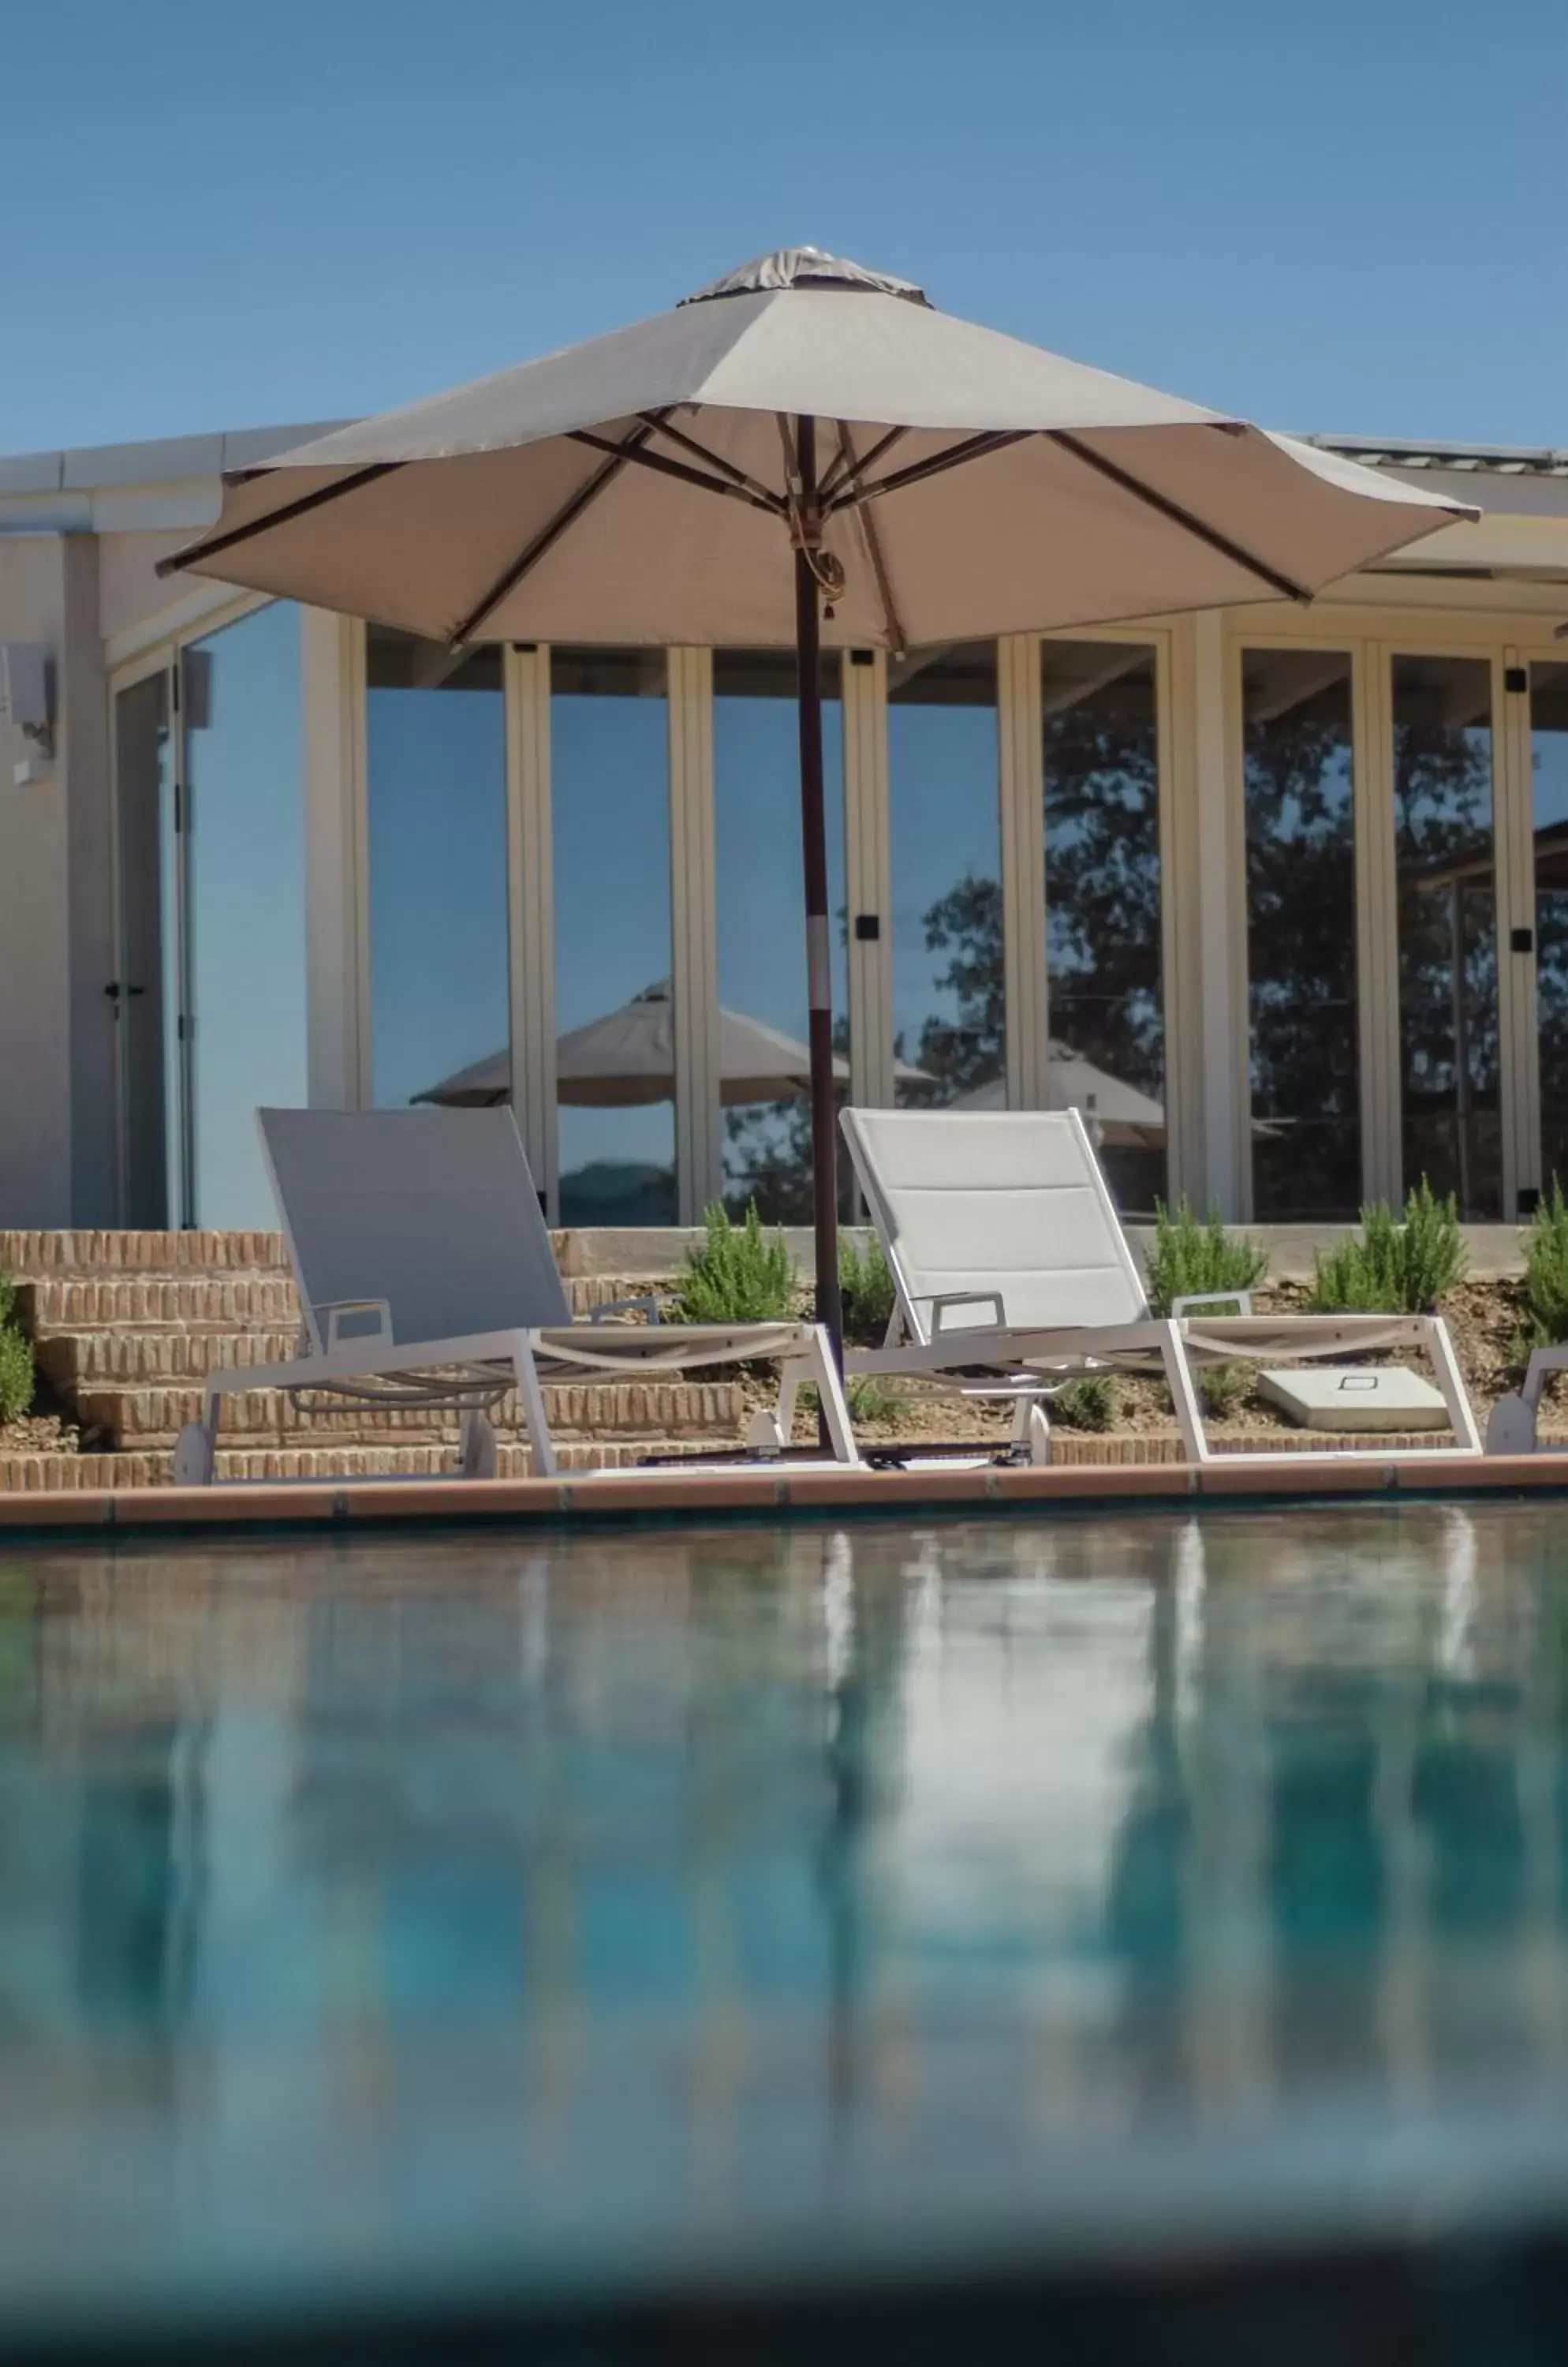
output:
[{"label": "larger umbrella canopy reflected in glass panes above the left lounger", "polygon": [[[925,1070],[896,1063],[903,1079],[922,1082]],[[849,1082],[849,1063],[835,1053],[837,1084]],[[719,1098],[724,1108],[747,1101],[785,1101],[811,1084],[811,1053],[795,1037],[745,1018],[743,1011],[719,1011]],[[587,1027],[572,1027],[556,1044],[558,1098],[572,1108],[631,1110],[674,1094],[674,1032],[669,980],[634,994],[620,1011],[605,1011]],[[494,1108],[511,1101],[511,1053],[492,1051],[454,1077],[442,1077],[414,1101],[445,1108]]]}]

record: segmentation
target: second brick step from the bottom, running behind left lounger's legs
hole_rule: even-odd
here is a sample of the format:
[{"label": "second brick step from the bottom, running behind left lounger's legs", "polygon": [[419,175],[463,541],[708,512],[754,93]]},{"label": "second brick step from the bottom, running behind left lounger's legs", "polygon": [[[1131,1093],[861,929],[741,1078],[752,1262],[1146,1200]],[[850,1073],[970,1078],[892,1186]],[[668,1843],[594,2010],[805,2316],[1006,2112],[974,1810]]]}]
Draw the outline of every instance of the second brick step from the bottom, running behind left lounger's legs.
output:
[{"label": "second brick step from the bottom, running behind left lounger's legs", "polygon": [[[740,1427],[740,1387],[733,1380],[615,1380],[603,1387],[551,1382],[544,1406],[556,1437],[736,1437]],[[85,1430],[106,1432],[118,1446],[168,1446],[175,1434],[201,1418],[201,1389],[80,1389],[76,1413]],[[518,1432],[518,1404],[508,1392],[492,1415],[497,1430]],[[322,1442],[414,1444],[456,1439],[456,1418],[426,1408],[345,1406],[329,1413],[300,1413],[281,1389],[237,1389],[222,1404],[225,1437],[263,1437],[279,1444]]]}]

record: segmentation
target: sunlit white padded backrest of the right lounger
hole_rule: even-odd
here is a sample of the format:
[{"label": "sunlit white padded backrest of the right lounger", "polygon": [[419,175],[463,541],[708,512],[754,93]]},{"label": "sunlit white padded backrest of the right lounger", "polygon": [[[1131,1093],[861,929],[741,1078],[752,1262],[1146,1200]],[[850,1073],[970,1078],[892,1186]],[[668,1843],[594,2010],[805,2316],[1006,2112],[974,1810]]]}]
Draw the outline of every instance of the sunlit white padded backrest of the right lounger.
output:
[{"label": "sunlit white padded backrest of the right lounger", "polygon": [[[911,1337],[955,1290],[998,1292],[1012,1328],[1147,1316],[1076,1110],[844,1110],[844,1136]],[[986,1304],[941,1316],[989,1323]]]}]

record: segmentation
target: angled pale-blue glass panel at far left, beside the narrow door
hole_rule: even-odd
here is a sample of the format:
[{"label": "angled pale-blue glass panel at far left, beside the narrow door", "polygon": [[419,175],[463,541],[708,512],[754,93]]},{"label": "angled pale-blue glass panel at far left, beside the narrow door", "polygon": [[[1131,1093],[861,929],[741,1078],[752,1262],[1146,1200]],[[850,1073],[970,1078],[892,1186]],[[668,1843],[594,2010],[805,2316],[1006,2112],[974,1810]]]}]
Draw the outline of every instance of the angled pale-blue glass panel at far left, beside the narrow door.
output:
[{"label": "angled pale-blue glass panel at far left, beside the narrow door", "polygon": [[194,641],[182,679],[189,1214],[272,1226],[255,1110],[307,1098],[300,611],[274,601]]}]

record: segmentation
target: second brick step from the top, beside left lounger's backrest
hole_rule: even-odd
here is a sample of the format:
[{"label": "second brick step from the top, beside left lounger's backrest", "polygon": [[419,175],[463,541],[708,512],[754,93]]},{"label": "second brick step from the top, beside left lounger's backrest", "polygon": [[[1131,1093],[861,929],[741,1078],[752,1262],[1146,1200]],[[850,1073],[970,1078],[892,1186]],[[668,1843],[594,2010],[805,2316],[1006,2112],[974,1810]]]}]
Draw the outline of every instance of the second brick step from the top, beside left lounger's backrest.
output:
[{"label": "second brick step from the top, beside left lounger's backrest", "polygon": [[[591,1316],[596,1307],[608,1307],[620,1297],[646,1297],[648,1285],[610,1281],[608,1276],[575,1276],[565,1285],[575,1316]],[[298,1299],[286,1273],[232,1273],[158,1281],[154,1276],[66,1278],[21,1283],[17,1311],[26,1330],[47,1349],[59,1342],[54,1359],[45,1354],[45,1368],[61,1387],[80,1370],[83,1380],[95,1373],[130,1380],[158,1378],[170,1370],[206,1373],[206,1363],[187,1366],[104,1366],[90,1359],[99,1352],[102,1335],[144,1335],[168,1342],[189,1335],[194,1340],[272,1337],[284,1344],[272,1352],[272,1361],[291,1356],[298,1337]],[[83,1340],[83,1361],[73,1363],[73,1337]],[[225,1356],[218,1354],[222,1363]],[[239,1363],[234,1354],[227,1361]],[[263,1363],[260,1354],[246,1361]]]}]

